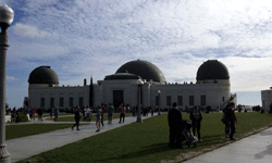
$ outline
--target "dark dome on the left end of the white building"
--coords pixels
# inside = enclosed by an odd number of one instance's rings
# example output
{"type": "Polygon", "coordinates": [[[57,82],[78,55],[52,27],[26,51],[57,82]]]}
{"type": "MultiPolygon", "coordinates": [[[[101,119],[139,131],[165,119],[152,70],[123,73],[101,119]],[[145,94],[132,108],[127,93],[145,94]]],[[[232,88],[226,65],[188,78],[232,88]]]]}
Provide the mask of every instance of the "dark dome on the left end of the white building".
{"type": "Polygon", "coordinates": [[[50,66],[39,66],[30,73],[28,83],[59,85],[59,77],[50,66]]]}

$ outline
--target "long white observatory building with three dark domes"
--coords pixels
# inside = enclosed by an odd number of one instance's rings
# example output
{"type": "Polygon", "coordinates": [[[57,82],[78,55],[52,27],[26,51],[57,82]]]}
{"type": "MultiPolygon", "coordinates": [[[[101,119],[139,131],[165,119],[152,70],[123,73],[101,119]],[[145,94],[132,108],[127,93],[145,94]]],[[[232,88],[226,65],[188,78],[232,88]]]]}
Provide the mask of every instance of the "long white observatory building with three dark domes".
{"type": "Polygon", "coordinates": [[[71,87],[59,86],[58,75],[50,66],[39,66],[28,78],[28,108],[94,108],[101,103],[118,106],[121,102],[133,108],[140,100],[144,106],[168,109],[177,102],[183,110],[194,105],[219,110],[230,101],[237,103],[236,95],[231,93],[227,67],[222,62],[208,60],[202,63],[196,78],[196,84],[168,84],[156,65],[135,60],[123,64],[115,74],[106,76],[97,84],[90,79],[87,85],[84,79],[83,86],[71,87]]]}

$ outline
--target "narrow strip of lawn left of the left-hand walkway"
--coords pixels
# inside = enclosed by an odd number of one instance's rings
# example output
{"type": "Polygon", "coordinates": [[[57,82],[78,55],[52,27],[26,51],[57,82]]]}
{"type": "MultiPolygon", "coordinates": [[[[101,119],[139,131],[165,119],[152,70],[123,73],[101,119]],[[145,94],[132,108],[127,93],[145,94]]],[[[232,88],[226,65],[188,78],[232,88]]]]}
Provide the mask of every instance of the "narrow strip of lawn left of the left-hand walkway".
{"type": "Polygon", "coordinates": [[[71,127],[71,124],[27,124],[27,125],[7,125],[5,139],[15,139],[41,133],[71,127]]]}

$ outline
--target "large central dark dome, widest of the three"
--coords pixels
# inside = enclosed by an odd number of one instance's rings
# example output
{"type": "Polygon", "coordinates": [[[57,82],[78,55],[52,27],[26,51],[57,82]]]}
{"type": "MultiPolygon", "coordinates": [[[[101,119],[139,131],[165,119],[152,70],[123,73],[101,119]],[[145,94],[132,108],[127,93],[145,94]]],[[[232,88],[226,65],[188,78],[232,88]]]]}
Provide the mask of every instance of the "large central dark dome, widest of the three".
{"type": "Polygon", "coordinates": [[[131,61],[123,64],[115,74],[129,73],[140,76],[143,79],[150,82],[164,83],[165,77],[162,72],[152,63],[141,60],[131,61]]]}

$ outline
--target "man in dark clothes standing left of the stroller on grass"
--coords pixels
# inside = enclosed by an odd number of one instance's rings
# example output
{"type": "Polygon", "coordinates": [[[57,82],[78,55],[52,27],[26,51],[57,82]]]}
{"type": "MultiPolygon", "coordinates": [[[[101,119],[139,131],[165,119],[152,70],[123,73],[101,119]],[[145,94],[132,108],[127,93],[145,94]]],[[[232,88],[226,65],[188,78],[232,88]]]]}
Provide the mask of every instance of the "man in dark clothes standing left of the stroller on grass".
{"type": "Polygon", "coordinates": [[[183,131],[183,117],[182,112],[177,109],[176,102],[173,103],[173,109],[169,111],[168,115],[169,127],[170,127],[170,148],[182,149],[182,131],[183,131]]]}

